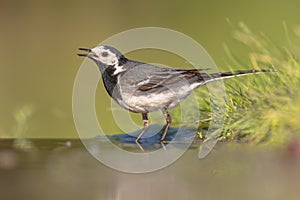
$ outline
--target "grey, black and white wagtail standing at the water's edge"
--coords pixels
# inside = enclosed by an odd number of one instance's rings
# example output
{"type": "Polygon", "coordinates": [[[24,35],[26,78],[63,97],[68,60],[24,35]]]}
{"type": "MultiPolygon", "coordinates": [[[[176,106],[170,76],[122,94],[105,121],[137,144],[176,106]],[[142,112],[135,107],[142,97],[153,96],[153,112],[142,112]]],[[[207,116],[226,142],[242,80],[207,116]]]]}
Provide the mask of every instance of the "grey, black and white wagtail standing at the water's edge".
{"type": "Polygon", "coordinates": [[[137,143],[149,126],[149,112],[160,110],[166,119],[163,141],[171,124],[167,110],[186,99],[194,89],[219,79],[271,71],[253,69],[208,74],[199,69],[163,68],[129,60],[110,46],[79,50],[87,53],[78,56],[88,57],[98,65],[108,94],[121,107],[142,114],[144,128],[136,138],[137,143]]]}

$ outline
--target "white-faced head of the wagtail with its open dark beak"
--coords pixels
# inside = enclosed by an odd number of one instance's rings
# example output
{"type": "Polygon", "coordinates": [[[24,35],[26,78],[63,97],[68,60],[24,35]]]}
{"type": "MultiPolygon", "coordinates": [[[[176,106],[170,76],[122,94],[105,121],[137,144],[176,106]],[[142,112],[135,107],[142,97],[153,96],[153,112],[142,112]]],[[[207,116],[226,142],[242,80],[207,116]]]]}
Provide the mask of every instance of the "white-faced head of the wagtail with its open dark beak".
{"type": "Polygon", "coordinates": [[[87,53],[77,54],[78,56],[88,57],[96,63],[103,64],[105,66],[116,66],[120,63],[120,61],[125,59],[120,51],[110,46],[97,46],[92,49],[79,48],[79,50],[87,53]]]}

